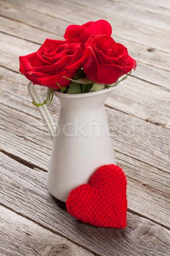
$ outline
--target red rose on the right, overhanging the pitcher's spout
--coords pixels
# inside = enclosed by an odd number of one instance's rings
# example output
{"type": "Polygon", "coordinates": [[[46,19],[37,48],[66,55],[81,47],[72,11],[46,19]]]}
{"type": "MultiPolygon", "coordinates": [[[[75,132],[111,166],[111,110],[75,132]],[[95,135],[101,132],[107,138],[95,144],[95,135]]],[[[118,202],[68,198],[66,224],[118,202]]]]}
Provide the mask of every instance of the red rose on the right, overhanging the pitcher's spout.
{"type": "Polygon", "coordinates": [[[119,77],[136,68],[127,48],[108,35],[91,36],[85,44],[83,71],[88,79],[113,84],[119,77]]]}

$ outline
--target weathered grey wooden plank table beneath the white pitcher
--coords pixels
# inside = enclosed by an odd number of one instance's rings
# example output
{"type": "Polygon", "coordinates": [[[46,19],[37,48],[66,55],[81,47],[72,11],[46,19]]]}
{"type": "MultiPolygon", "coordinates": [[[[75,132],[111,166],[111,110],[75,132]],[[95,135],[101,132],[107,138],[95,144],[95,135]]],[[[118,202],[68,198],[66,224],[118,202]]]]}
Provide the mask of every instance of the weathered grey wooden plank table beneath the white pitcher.
{"type": "MultiPolygon", "coordinates": [[[[170,1],[0,0],[0,256],[170,255],[170,1]],[[46,188],[51,139],[18,56],[69,24],[106,19],[137,68],[105,102],[127,176],[127,227],[71,217],[46,188]]],[[[43,90],[44,88],[41,88],[43,90]]],[[[49,111],[57,121],[57,99],[49,111]]]]}

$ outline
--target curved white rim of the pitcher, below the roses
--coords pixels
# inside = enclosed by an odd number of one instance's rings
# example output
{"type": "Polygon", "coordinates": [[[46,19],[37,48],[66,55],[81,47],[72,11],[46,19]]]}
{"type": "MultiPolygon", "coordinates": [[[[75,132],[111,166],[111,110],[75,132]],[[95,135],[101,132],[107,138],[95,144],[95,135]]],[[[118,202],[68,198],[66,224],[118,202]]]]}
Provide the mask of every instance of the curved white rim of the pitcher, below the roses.
{"type": "MultiPolygon", "coordinates": [[[[119,81],[120,79],[118,79],[117,81],[119,81]]],[[[76,94],[71,94],[71,93],[60,93],[56,90],[54,90],[54,95],[61,97],[61,98],[69,98],[69,99],[74,99],[74,98],[84,98],[84,97],[88,97],[88,96],[94,96],[94,95],[98,95],[98,94],[102,94],[102,93],[106,93],[109,91],[112,91],[120,86],[123,85],[123,81],[120,82],[119,84],[113,86],[113,87],[108,87],[102,90],[98,90],[98,91],[94,91],[94,92],[90,92],[90,93],[76,93],[76,94]]]]}

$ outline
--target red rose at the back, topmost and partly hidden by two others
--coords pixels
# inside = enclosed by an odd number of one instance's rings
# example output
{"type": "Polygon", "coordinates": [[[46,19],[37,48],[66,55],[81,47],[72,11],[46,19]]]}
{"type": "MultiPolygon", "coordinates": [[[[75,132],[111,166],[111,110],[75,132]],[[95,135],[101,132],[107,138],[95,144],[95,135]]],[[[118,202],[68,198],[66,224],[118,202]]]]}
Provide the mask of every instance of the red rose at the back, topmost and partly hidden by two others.
{"type": "Polygon", "coordinates": [[[85,44],[91,35],[109,35],[112,28],[106,20],[89,21],[82,26],[70,25],[65,30],[64,38],[68,42],[85,44]]]}

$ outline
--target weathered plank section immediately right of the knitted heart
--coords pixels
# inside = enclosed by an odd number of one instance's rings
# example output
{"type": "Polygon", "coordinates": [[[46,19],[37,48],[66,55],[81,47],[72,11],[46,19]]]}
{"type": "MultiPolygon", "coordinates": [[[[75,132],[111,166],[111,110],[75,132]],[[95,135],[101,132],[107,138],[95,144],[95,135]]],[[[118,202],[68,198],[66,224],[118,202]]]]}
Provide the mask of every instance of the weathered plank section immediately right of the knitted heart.
{"type": "MultiPolygon", "coordinates": [[[[125,168],[126,170],[126,168],[125,168]]],[[[170,177],[169,177],[170,178],[170,177]]],[[[146,216],[156,223],[163,223],[164,226],[170,227],[170,194],[164,194],[156,191],[142,183],[127,178],[127,201],[129,209],[137,212],[138,215],[146,216]],[[155,216],[157,216],[155,218],[155,216]],[[163,219],[165,221],[163,221],[163,219]]],[[[153,181],[154,183],[154,181],[153,181]]],[[[170,184],[169,184],[170,185],[170,184]]]]}

